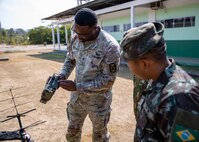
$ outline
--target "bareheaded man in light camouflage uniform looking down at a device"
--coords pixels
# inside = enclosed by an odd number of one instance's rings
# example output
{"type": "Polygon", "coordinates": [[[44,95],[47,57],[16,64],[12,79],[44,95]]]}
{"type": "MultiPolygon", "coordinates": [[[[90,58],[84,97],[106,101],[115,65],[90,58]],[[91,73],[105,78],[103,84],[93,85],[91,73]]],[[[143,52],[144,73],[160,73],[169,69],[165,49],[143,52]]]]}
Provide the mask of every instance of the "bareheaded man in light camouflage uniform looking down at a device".
{"type": "Polygon", "coordinates": [[[80,142],[83,122],[89,115],[93,142],[108,142],[112,86],[119,68],[118,42],[97,26],[97,16],[88,9],[75,15],[74,37],[60,71],[60,86],[72,91],[67,107],[68,142],[80,142]],[[75,81],[66,80],[75,68],[75,81]]]}

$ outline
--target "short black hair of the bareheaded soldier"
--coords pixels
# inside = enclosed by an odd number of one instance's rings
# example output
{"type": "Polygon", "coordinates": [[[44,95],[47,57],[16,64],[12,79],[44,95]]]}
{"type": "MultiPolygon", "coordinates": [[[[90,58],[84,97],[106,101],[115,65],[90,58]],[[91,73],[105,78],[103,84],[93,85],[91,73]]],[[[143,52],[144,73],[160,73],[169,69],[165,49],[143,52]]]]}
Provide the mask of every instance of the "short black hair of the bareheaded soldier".
{"type": "Polygon", "coordinates": [[[82,8],[75,15],[75,23],[80,26],[92,27],[97,24],[97,15],[89,8],[82,8]]]}

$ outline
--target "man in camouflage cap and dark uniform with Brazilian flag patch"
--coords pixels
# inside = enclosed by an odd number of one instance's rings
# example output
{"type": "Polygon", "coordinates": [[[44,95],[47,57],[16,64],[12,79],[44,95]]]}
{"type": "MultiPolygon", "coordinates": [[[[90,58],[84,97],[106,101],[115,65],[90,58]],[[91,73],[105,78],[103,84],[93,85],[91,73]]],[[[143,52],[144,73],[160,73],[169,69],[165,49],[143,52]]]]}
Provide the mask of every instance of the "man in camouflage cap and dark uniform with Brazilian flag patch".
{"type": "Polygon", "coordinates": [[[199,85],[166,55],[161,23],[126,32],[124,59],[140,79],[150,80],[138,103],[135,142],[199,141],[199,85]]]}

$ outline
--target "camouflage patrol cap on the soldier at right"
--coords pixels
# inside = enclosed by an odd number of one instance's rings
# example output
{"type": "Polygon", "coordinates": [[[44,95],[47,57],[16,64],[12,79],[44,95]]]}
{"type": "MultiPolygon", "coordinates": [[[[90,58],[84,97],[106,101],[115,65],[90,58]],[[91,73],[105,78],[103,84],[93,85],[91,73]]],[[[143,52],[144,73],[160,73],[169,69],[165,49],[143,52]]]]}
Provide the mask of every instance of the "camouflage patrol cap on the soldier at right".
{"type": "Polygon", "coordinates": [[[164,25],[147,23],[128,30],[120,43],[125,60],[135,60],[153,48],[163,38],[164,25]]]}

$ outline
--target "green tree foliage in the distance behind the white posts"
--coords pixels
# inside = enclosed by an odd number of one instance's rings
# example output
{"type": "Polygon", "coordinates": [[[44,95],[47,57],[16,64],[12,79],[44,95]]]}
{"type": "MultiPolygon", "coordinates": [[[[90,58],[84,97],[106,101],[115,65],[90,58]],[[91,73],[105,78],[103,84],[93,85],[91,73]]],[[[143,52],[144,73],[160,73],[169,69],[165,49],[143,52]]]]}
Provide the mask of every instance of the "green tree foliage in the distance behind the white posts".
{"type": "MultiPolygon", "coordinates": [[[[68,39],[70,39],[70,25],[67,25],[68,39]]],[[[54,29],[57,43],[57,27],[54,29]]],[[[60,43],[65,43],[65,27],[59,28],[60,43]]],[[[52,28],[39,26],[28,31],[23,29],[0,29],[0,44],[52,44],[52,28]]]]}

